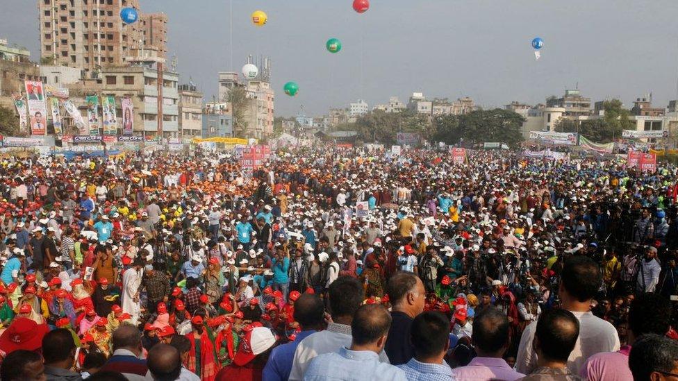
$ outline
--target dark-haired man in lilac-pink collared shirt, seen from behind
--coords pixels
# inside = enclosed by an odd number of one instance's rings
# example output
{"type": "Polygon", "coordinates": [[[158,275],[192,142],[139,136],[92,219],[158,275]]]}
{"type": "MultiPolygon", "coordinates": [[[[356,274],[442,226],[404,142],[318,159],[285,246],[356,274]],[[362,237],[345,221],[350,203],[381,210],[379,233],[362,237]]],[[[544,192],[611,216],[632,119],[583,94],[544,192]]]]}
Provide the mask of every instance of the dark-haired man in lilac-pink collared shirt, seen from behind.
{"type": "Polygon", "coordinates": [[[467,366],[452,369],[456,380],[513,381],[524,377],[502,358],[509,348],[509,319],[506,314],[495,307],[481,312],[473,321],[471,340],[478,356],[467,366]]]}

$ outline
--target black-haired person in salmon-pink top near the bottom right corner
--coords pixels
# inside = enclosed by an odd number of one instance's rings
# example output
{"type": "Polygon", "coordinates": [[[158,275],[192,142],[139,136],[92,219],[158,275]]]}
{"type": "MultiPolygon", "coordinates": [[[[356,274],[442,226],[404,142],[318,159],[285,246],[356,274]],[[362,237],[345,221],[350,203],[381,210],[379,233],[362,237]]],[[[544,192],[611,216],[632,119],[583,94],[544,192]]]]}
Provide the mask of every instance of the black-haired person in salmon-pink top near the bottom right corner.
{"type": "Polygon", "coordinates": [[[629,353],[634,341],[647,333],[665,335],[671,318],[668,299],[658,294],[641,294],[631,302],[629,310],[629,344],[616,352],[597,353],[588,358],[579,372],[590,381],[633,380],[629,369],[629,353]]]}

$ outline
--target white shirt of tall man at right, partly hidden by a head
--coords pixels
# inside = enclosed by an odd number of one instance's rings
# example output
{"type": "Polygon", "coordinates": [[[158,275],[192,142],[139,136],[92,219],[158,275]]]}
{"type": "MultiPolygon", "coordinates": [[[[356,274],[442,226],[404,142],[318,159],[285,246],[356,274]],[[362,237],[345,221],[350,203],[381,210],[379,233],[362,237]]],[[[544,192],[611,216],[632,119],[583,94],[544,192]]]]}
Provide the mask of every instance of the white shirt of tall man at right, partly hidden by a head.
{"type": "MultiPolygon", "coordinates": [[[[579,369],[584,365],[588,357],[601,352],[615,352],[619,350],[619,336],[617,330],[608,321],[593,316],[589,312],[572,312],[579,320],[579,337],[574,350],[568,359],[568,369],[573,374],[579,374],[579,369]]],[[[515,359],[515,370],[529,374],[537,368],[537,354],[532,347],[534,332],[537,322],[533,321],[522,332],[518,358],[515,359]]]]}

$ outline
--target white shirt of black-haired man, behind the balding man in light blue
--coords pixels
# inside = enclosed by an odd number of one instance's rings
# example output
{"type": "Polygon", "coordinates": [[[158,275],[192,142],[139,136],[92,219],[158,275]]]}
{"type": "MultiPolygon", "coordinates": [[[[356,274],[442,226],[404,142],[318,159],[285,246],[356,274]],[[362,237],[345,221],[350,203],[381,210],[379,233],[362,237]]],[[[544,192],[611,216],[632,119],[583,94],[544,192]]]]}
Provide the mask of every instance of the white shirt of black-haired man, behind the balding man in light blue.
{"type": "MultiPolygon", "coordinates": [[[[351,327],[349,325],[329,323],[327,330],[315,332],[301,340],[297,350],[295,350],[289,380],[301,381],[308,365],[311,364],[311,360],[317,355],[333,353],[343,347],[349,348],[352,340],[350,333],[351,327]]],[[[389,364],[388,356],[383,350],[379,354],[379,361],[389,364]]]]}

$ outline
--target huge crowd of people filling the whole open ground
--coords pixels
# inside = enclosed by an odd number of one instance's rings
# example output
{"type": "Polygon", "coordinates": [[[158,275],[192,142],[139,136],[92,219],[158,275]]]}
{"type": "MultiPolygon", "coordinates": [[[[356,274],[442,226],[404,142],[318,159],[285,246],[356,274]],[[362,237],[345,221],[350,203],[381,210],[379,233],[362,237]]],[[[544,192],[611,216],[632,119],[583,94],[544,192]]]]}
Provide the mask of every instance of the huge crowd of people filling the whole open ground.
{"type": "Polygon", "coordinates": [[[0,159],[1,380],[678,377],[678,169],[0,159]]]}

